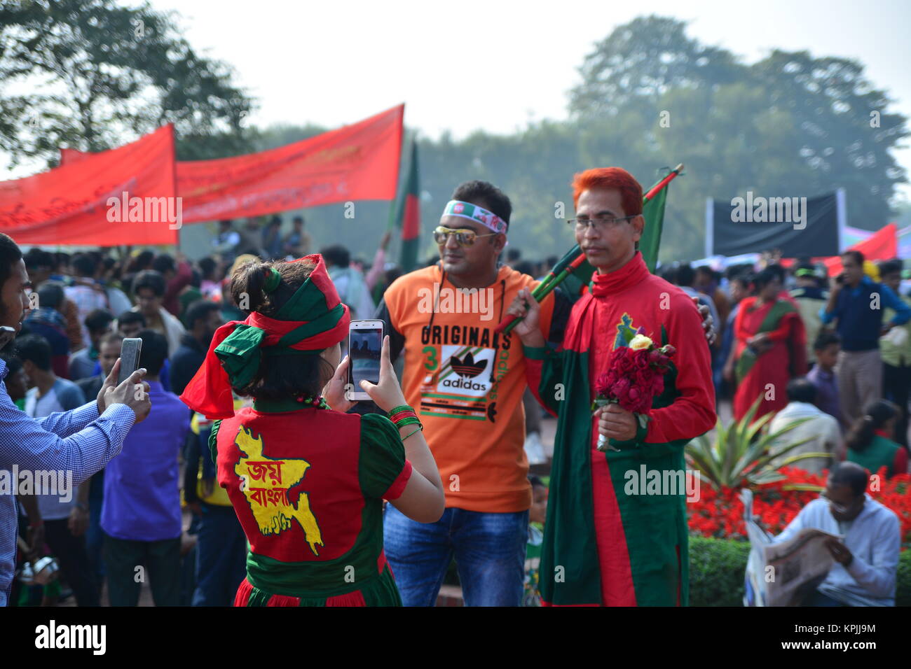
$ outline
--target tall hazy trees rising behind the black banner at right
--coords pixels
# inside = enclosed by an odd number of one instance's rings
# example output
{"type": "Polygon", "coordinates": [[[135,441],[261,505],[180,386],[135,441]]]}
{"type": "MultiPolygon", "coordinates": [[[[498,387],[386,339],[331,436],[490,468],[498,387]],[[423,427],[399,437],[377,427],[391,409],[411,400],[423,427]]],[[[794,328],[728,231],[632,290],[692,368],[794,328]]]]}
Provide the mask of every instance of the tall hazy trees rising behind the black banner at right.
{"type": "Polygon", "coordinates": [[[863,65],[773,51],[743,66],[685,28],[660,16],[618,26],[586,56],[569,98],[588,137],[578,153],[586,167],[627,167],[645,185],[655,167],[686,164],[671,187],[662,259],[701,257],[706,199],[747,190],[813,197],[844,188],[852,225],[888,222],[906,181],[892,150],[907,119],[889,110],[863,65]]]}

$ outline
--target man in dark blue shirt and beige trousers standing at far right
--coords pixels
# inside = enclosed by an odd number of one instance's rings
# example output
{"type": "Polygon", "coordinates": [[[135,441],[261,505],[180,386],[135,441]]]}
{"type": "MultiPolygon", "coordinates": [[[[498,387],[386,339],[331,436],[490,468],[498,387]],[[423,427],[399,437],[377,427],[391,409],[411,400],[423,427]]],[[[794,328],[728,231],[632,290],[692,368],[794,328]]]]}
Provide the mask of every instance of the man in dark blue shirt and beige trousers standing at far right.
{"type": "MultiPolygon", "coordinates": [[[[888,286],[864,274],[864,254],[848,250],[842,254],[842,273],[831,280],[829,301],[820,309],[824,325],[837,319],[835,329],[842,338],[835,375],[842,405],[842,418],[850,425],[864,407],[883,397],[883,364],[879,338],[896,325],[911,319],[911,308],[888,286]],[[896,313],[883,322],[883,309],[896,313]]],[[[905,411],[905,408],[902,408],[905,411]]]]}

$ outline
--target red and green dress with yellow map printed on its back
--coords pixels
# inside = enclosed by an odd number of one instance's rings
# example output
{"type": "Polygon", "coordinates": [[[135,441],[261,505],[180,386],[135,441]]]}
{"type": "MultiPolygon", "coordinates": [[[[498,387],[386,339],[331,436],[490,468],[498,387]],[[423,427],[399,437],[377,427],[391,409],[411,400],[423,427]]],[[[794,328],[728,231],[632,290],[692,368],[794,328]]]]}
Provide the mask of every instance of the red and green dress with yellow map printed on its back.
{"type": "Polygon", "coordinates": [[[255,401],[217,421],[218,481],[251,545],[235,606],[400,606],[383,500],[411,476],[384,416],[255,401]]]}

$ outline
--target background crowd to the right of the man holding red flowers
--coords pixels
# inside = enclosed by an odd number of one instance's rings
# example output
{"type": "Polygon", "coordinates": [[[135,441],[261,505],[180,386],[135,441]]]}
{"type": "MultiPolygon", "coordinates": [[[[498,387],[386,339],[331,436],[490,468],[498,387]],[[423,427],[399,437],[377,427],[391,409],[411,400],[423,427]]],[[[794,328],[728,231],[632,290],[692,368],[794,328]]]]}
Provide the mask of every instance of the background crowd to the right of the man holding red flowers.
{"type": "Polygon", "coordinates": [[[906,473],[911,390],[911,298],[898,258],[865,260],[849,250],[832,277],[798,258],[785,269],[764,254],[760,266],[674,264],[662,276],[717,314],[716,394],[732,398],[735,420],[774,413],[772,431],[803,421],[781,443],[805,441],[792,455],[807,471],[854,461],[889,476],[906,473]]]}

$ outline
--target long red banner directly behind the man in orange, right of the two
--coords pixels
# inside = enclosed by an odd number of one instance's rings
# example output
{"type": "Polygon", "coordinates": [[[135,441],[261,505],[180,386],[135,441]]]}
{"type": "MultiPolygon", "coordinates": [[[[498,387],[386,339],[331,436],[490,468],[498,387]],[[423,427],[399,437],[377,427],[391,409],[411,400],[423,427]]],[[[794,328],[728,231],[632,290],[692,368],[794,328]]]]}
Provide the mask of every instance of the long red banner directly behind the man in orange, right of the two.
{"type": "MultiPolygon", "coordinates": [[[[404,105],[284,147],[217,160],[180,161],[183,222],[261,216],[348,200],[394,199],[404,105]]],[[[61,165],[86,156],[60,149],[61,165]]]]}

